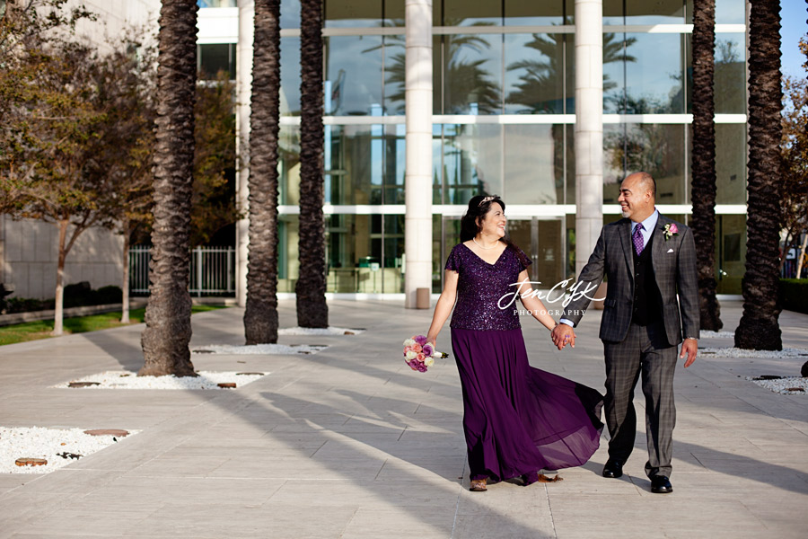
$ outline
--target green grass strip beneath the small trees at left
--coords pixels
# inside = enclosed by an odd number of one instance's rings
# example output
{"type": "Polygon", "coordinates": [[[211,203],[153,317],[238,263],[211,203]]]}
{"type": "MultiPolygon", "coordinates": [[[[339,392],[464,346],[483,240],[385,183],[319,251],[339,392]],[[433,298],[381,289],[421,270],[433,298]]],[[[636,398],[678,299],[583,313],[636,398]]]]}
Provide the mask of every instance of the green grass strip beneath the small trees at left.
{"type": "MultiPolygon", "coordinates": [[[[205,311],[224,308],[224,305],[193,305],[191,313],[204,313],[205,311]]],[[[131,320],[131,323],[142,323],[144,313],[145,309],[132,309],[129,311],[129,320],[131,320]]],[[[120,311],[92,314],[91,316],[75,316],[74,318],[65,319],[65,334],[106,330],[122,325],[130,324],[120,323],[120,311]]],[[[26,340],[47,339],[50,337],[50,331],[53,331],[53,320],[17,323],[0,327],[0,346],[26,340]]]]}

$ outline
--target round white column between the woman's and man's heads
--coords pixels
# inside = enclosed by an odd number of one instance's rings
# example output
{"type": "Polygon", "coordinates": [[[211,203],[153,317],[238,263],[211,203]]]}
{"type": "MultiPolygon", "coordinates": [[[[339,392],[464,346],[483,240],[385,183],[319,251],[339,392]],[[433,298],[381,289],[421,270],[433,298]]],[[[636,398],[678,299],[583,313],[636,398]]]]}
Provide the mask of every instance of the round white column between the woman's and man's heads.
{"type": "Polygon", "coordinates": [[[603,226],[603,4],[575,0],[575,274],[603,226]]]}

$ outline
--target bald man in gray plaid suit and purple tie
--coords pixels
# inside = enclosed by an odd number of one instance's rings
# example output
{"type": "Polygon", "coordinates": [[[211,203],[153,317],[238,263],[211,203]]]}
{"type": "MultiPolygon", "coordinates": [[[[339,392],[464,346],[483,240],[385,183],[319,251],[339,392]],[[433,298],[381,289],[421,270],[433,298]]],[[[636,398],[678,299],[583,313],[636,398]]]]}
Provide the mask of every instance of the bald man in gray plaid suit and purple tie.
{"type": "MultiPolygon", "coordinates": [[[[603,477],[620,477],[634,447],[634,387],[642,373],[646,474],[652,492],[667,493],[673,490],[669,477],[676,420],[676,347],[681,343],[680,358],[687,357],[684,366],[692,365],[698,349],[698,282],[693,233],[660,215],[655,199],[656,182],[650,174],[628,175],[618,199],[624,218],[603,226],[578,282],[592,283],[592,289],[604,275],[609,282],[600,332],[606,359],[604,408],[611,437],[603,477]]],[[[584,296],[566,306],[552,332],[558,349],[567,343],[575,346],[573,327],[589,301],[584,296]]]]}

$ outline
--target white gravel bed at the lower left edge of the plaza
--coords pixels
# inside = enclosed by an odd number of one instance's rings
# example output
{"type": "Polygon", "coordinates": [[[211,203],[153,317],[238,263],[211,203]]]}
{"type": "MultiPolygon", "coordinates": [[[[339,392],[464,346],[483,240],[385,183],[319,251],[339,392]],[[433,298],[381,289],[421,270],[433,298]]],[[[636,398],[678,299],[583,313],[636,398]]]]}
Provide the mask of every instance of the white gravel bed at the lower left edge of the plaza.
{"type": "Polygon", "coordinates": [[[121,438],[90,436],[84,430],[0,427],[0,473],[50,473],[140,432],[129,430],[128,436],[121,438]],[[18,458],[44,458],[48,464],[18,466],[14,464],[18,458]]]}

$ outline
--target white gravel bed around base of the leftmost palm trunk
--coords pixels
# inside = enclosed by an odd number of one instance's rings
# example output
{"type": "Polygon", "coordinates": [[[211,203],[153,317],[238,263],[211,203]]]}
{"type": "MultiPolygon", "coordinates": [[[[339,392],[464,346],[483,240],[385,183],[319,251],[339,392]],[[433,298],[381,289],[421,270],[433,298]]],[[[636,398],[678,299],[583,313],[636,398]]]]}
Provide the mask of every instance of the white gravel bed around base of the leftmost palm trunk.
{"type": "MultiPolygon", "coordinates": [[[[233,372],[198,371],[199,376],[137,376],[135,371],[107,371],[98,375],[82,376],[51,387],[68,387],[71,382],[98,382],[81,389],[231,389],[218,384],[234,383],[236,388],[255,382],[269,373],[239,374],[233,372]]],[[[71,388],[76,389],[78,388],[71,388]]]]}

